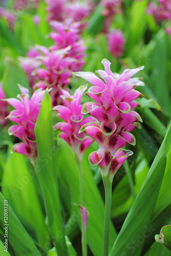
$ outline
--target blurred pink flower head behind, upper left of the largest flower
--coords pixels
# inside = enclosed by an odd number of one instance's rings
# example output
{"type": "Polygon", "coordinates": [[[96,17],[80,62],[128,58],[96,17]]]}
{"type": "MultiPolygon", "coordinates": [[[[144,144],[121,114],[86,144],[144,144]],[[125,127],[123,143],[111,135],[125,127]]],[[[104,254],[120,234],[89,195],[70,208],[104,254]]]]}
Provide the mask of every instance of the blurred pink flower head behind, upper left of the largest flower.
{"type": "Polygon", "coordinates": [[[51,32],[50,36],[55,41],[55,46],[52,46],[52,50],[63,49],[70,46],[67,56],[75,58],[77,61],[72,63],[71,70],[78,71],[81,70],[85,61],[86,47],[84,46],[84,41],[80,39],[80,22],[73,22],[71,18],[66,18],[64,23],[59,23],[52,21],[50,25],[56,29],[57,32],[51,32]]]}

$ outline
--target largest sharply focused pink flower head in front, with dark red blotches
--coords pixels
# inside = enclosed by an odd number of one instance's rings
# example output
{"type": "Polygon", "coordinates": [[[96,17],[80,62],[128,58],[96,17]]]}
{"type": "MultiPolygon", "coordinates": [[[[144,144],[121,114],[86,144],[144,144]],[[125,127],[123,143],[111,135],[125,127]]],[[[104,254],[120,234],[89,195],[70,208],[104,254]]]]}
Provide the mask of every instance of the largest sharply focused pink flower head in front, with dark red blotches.
{"type": "Polygon", "coordinates": [[[99,165],[103,175],[113,177],[121,164],[133,154],[121,147],[129,143],[135,145],[135,137],[130,131],[135,128],[137,121],[142,121],[132,109],[137,105],[134,100],[141,96],[134,89],[142,86],[143,82],[131,77],[144,67],[113,75],[111,63],[107,59],[103,59],[102,63],[105,71],[98,70],[97,73],[105,82],[91,72],[74,74],[93,85],[86,95],[95,102],[86,103],[81,113],[89,114],[100,122],[86,123],[80,129],[80,133],[90,136],[100,147],[90,154],[89,161],[92,165],[99,165]]]}

